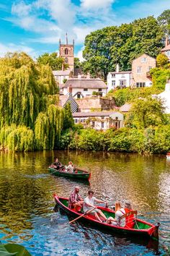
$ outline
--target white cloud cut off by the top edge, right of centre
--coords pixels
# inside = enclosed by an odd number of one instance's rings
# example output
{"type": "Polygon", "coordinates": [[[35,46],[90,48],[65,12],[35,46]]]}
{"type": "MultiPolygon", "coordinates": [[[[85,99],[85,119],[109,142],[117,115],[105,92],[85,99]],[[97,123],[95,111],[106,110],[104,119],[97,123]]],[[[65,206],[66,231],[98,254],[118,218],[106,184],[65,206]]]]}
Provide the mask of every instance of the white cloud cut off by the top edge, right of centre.
{"type": "Polygon", "coordinates": [[[81,0],[81,7],[84,9],[101,9],[108,8],[114,0],[81,0]]]}

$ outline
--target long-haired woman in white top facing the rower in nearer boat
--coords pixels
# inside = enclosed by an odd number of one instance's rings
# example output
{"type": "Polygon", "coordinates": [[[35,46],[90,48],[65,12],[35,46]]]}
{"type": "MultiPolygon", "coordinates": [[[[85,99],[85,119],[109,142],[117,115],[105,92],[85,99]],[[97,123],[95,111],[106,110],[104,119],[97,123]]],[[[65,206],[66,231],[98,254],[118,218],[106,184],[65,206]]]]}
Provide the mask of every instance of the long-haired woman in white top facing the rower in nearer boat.
{"type": "Polygon", "coordinates": [[[125,226],[125,218],[121,219],[124,214],[125,209],[121,207],[121,202],[115,202],[115,218],[109,217],[107,223],[115,226],[125,226]]]}

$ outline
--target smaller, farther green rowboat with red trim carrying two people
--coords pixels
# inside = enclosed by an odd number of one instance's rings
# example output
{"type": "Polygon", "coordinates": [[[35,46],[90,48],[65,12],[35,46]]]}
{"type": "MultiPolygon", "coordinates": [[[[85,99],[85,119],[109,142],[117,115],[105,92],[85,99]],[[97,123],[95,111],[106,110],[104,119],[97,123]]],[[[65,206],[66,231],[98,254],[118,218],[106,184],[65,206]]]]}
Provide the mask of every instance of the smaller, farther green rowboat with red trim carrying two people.
{"type": "Polygon", "coordinates": [[[50,171],[50,174],[53,174],[55,176],[64,176],[67,178],[73,178],[73,179],[90,179],[91,173],[89,171],[84,171],[79,168],[74,168],[73,172],[64,171],[63,168],[59,168],[58,170],[52,167],[48,168],[50,171]]]}

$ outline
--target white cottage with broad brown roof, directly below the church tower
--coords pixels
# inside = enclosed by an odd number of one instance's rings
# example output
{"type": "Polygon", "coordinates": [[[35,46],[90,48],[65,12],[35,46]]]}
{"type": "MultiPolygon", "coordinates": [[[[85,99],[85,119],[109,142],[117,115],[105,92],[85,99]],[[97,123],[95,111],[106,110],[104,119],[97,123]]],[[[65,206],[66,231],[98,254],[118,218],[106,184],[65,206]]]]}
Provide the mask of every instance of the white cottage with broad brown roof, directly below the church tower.
{"type": "Polygon", "coordinates": [[[63,85],[63,95],[68,93],[68,88],[74,98],[91,96],[94,92],[102,96],[107,94],[107,85],[99,78],[69,78],[63,85]]]}

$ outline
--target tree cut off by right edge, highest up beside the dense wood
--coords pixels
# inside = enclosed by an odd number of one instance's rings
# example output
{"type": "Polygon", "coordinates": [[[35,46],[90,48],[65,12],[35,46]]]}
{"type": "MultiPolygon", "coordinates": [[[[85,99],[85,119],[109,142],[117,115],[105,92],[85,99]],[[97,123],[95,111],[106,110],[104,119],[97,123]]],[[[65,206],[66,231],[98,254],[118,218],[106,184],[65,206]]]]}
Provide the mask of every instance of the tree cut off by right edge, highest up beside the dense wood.
{"type": "Polygon", "coordinates": [[[170,36],[170,9],[165,10],[158,16],[158,24],[164,30],[166,35],[170,36]]]}

